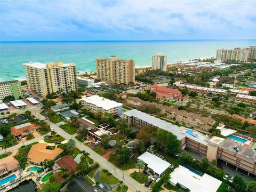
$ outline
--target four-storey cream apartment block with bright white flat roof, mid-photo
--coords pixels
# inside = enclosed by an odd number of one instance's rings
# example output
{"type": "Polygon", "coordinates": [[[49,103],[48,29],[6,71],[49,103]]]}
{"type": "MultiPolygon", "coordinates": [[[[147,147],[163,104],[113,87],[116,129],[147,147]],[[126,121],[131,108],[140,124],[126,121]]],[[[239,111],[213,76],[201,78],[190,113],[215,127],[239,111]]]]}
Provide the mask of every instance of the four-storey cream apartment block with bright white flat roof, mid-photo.
{"type": "Polygon", "coordinates": [[[91,97],[83,96],[82,105],[93,113],[109,113],[111,115],[122,116],[122,103],[111,101],[109,99],[93,95],[91,97]]]}

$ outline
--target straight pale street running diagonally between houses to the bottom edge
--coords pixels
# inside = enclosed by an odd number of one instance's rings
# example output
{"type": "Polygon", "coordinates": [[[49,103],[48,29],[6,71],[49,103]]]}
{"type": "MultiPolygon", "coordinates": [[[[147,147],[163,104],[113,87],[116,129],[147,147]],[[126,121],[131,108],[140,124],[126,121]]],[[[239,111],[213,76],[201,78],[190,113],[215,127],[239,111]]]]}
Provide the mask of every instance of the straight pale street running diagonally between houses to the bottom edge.
{"type": "Polygon", "coordinates": [[[124,177],[124,183],[127,187],[129,187],[133,191],[149,191],[148,188],[141,185],[139,182],[135,181],[133,178],[130,177],[126,172],[118,169],[115,165],[107,161],[105,158],[101,157],[99,154],[97,154],[95,151],[93,151],[91,148],[85,146],[82,142],[75,139],[72,135],[68,134],[67,132],[63,131],[55,125],[54,123],[50,122],[49,120],[45,121],[48,123],[51,127],[54,128],[54,131],[56,131],[59,135],[61,135],[66,140],[74,139],[76,141],[76,147],[79,150],[85,150],[86,152],[90,153],[90,157],[99,163],[99,165],[103,168],[111,172],[117,179],[123,181],[124,177]]]}

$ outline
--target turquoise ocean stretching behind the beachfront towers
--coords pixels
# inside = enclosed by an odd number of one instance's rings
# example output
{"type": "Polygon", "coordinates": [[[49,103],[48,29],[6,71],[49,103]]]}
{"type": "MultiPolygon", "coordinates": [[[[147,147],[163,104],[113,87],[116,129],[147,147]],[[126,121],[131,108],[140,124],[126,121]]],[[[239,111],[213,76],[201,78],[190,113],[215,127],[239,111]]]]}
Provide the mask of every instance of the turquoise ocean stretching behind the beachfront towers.
{"type": "Polygon", "coordinates": [[[120,41],[120,42],[2,42],[0,81],[24,79],[22,64],[33,62],[74,62],[77,70],[95,71],[97,57],[117,55],[134,59],[135,66],[151,66],[151,56],[157,52],[167,54],[167,63],[196,58],[215,57],[220,48],[256,45],[256,40],[221,41],[120,41]]]}

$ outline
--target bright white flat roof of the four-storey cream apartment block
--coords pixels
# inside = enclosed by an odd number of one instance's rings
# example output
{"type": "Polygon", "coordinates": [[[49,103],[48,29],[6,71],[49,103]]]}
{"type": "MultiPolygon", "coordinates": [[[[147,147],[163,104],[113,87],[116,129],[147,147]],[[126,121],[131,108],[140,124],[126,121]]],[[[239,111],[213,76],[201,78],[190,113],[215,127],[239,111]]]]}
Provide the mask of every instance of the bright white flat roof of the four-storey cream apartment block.
{"type": "Polygon", "coordinates": [[[109,99],[99,97],[98,95],[93,95],[91,97],[82,98],[82,101],[85,101],[87,103],[91,103],[97,107],[103,108],[105,110],[109,110],[114,107],[122,106],[122,103],[118,103],[116,101],[111,101],[109,99]]]}

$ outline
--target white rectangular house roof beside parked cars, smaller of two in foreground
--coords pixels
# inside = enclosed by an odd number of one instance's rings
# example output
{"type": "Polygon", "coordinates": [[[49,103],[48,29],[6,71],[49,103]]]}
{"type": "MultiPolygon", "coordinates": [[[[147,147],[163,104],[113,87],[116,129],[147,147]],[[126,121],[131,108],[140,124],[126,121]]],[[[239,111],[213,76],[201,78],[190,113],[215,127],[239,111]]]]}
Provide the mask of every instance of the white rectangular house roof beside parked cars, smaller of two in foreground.
{"type": "Polygon", "coordinates": [[[168,169],[171,166],[170,163],[149,153],[148,151],[139,156],[138,159],[146,163],[151,170],[153,170],[155,173],[159,175],[161,175],[166,169],[168,169]]]}

